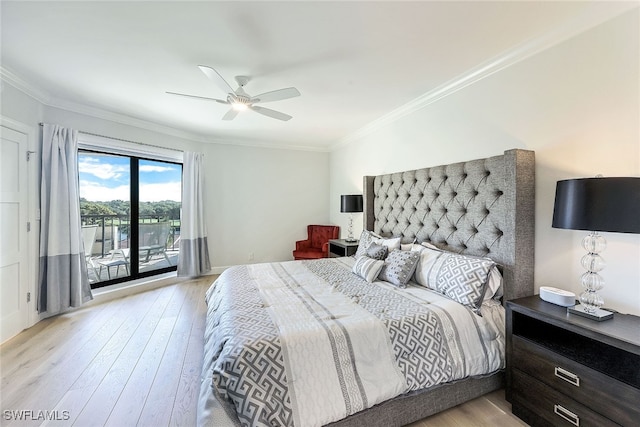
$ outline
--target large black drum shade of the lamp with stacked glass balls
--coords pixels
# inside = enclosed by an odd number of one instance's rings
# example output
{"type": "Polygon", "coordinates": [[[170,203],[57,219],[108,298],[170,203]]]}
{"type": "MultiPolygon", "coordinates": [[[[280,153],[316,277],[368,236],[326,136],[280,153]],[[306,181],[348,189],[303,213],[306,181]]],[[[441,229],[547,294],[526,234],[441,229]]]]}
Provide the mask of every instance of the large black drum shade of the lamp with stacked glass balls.
{"type": "Polygon", "coordinates": [[[640,233],[640,178],[558,181],[552,227],[640,233]]]}

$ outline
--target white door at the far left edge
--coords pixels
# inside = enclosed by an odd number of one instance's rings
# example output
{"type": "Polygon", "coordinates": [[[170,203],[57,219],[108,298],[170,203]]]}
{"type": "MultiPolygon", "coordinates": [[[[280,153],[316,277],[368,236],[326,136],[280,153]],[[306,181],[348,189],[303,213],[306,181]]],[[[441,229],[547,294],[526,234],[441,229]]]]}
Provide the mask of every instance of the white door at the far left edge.
{"type": "Polygon", "coordinates": [[[0,126],[0,342],[28,326],[27,135],[0,126]]]}

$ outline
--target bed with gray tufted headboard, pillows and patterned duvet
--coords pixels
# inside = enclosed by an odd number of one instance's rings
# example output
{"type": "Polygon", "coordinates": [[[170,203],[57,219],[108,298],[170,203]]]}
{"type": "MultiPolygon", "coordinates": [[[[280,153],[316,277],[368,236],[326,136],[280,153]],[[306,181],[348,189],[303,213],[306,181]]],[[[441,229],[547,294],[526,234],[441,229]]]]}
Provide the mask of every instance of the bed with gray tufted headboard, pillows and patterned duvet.
{"type": "Polygon", "coordinates": [[[503,386],[501,303],[533,294],[534,153],[363,193],[355,257],[236,266],[207,291],[199,425],[400,426],[503,386]]]}

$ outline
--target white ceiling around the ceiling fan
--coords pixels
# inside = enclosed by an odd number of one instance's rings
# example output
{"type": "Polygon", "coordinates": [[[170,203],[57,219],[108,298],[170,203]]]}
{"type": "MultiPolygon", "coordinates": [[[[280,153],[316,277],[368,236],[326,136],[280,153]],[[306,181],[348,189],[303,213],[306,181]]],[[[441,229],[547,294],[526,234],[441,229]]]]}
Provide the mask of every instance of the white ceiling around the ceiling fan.
{"type": "MultiPolygon", "coordinates": [[[[636,2],[1,2],[2,77],[47,105],[197,140],[328,150],[388,114],[499,69],[636,2]],[[506,59],[505,59],[506,58],[506,59]],[[165,91],[224,98],[196,67],[288,122],[165,91]],[[232,84],[235,87],[235,84],[232,84]]],[[[387,115],[387,116],[386,116],[387,115]]]]}

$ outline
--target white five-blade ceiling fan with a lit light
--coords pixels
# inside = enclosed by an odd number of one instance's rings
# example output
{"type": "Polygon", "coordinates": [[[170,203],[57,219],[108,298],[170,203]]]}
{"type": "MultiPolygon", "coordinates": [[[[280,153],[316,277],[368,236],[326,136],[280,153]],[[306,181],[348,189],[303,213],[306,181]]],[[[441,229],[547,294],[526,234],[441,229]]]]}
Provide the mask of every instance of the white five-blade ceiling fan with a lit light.
{"type": "Polygon", "coordinates": [[[197,98],[204,99],[208,101],[219,102],[220,104],[228,104],[231,105],[231,109],[222,116],[222,120],[233,120],[238,113],[244,110],[253,110],[256,113],[263,114],[267,117],[271,117],[278,120],[287,121],[291,119],[291,116],[285,113],[281,113],[280,111],[271,110],[269,108],[264,108],[258,103],[263,102],[272,102],[272,101],[280,101],[283,99],[293,98],[295,96],[300,96],[300,92],[295,87],[288,87],[285,89],[278,89],[271,92],[265,92],[260,95],[251,96],[244,91],[244,86],[249,82],[250,78],[247,76],[236,76],[235,80],[238,83],[238,88],[233,90],[233,88],[227,83],[227,81],[211,67],[207,67],[206,65],[198,65],[198,68],[215,84],[218,85],[220,89],[227,93],[227,99],[216,99],[216,98],[207,98],[205,96],[197,96],[197,95],[188,95],[186,93],[177,93],[177,92],[167,92],[171,95],[179,95],[186,96],[188,98],[197,98]]]}

